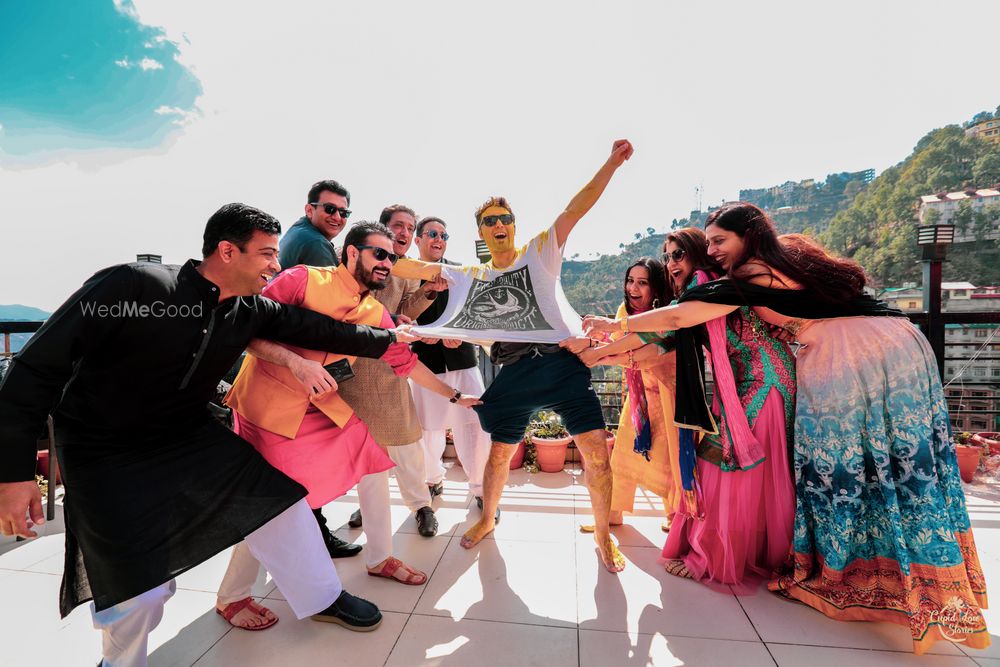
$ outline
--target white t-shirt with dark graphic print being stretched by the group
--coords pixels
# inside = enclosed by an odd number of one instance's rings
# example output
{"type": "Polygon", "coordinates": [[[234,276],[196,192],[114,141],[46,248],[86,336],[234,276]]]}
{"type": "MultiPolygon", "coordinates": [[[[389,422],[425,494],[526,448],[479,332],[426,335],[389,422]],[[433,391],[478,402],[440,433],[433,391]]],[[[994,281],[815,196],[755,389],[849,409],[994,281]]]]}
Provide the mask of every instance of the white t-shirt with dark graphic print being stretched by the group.
{"type": "Polygon", "coordinates": [[[421,336],[473,342],[558,343],[583,333],[580,316],[563,293],[559,273],[563,249],[547,229],[517,251],[505,269],[492,261],[442,266],[448,307],[435,322],[417,327],[421,336]]]}

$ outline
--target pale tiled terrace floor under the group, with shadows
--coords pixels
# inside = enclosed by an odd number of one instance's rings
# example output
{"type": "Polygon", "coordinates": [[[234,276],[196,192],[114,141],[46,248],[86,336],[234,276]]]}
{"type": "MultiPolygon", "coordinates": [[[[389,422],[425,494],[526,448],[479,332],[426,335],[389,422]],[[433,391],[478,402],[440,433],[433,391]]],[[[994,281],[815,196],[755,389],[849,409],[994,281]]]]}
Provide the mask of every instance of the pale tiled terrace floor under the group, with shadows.
{"type": "MultiPolygon", "coordinates": [[[[979,555],[990,595],[1000,600],[1000,493],[968,489],[979,555]]],[[[451,467],[435,501],[440,532],[420,537],[393,489],[397,555],[430,575],[425,586],[369,577],[361,558],[337,561],[347,590],[378,604],[373,633],[297,621],[261,573],[254,595],[281,617],[265,632],[231,628],[214,613],[214,591],[228,551],[178,578],[178,593],[150,638],[150,664],[198,667],[251,665],[482,665],[604,667],[619,665],[858,665],[1000,667],[1000,636],[986,651],[938,643],[933,654],[910,653],[908,632],[887,623],[841,623],[764,590],[729,591],[667,575],[657,563],[664,533],[656,499],[636,497],[636,514],[615,529],[628,567],[620,575],[598,565],[592,538],[578,526],[591,510],[579,470],[511,474],[496,534],[474,550],[462,532],[479,516],[465,476],[451,467]]],[[[346,522],[353,494],[325,513],[345,539],[364,542],[346,522]]],[[[0,541],[0,665],[91,666],[100,636],[86,607],[60,620],[62,527],[14,544],[0,541]]],[[[987,612],[1000,634],[1000,614],[987,612]]]]}

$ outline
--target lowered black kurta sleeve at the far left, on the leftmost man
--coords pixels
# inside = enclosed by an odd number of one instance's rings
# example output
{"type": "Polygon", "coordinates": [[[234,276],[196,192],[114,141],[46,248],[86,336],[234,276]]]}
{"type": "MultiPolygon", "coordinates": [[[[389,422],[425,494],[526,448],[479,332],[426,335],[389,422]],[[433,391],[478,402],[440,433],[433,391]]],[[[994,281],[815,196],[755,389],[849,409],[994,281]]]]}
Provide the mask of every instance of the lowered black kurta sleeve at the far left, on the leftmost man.
{"type": "Polygon", "coordinates": [[[15,355],[0,383],[0,482],[35,478],[35,442],[76,364],[121,324],[101,307],[131,300],[134,285],[128,266],[99,271],[15,355]]]}

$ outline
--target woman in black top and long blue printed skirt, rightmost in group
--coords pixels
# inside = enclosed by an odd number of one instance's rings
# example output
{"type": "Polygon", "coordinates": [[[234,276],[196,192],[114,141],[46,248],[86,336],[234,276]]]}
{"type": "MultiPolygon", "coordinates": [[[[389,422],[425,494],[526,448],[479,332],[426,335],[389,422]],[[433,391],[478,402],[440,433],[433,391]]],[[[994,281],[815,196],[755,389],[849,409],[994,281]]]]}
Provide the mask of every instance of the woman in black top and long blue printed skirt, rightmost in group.
{"type": "MultiPolygon", "coordinates": [[[[831,618],[909,627],[985,648],[986,585],[959,482],[930,345],[899,311],[866,297],[864,271],[801,235],[778,237],[757,207],[709,216],[727,271],[681,303],[594,331],[695,326],[752,305],[802,346],[797,359],[794,571],[771,589],[831,618]]],[[[685,346],[678,342],[678,365],[685,346]]],[[[702,417],[697,401],[678,419],[702,417]]]]}

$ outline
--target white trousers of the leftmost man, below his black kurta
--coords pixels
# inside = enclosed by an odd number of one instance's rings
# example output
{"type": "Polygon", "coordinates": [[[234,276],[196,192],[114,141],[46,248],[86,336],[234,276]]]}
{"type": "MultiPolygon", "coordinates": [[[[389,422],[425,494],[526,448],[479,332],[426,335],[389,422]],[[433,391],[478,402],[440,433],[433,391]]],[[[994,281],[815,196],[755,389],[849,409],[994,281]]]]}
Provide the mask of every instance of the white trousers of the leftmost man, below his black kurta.
{"type": "MultiPolygon", "coordinates": [[[[304,499],[247,535],[242,544],[271,573],[298,618],[323,611],[340,597],[340,577],[304,499]]],[[[91,604],[94,627],[104,635],[106,667],[145,667],[149,633],[163,618],[163,605],[176,588],[171,580],[104,611],[95,611],[91,604]]]]}

